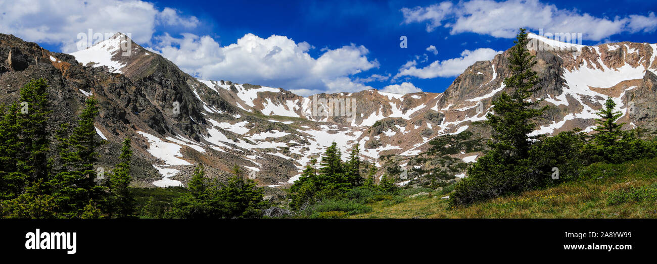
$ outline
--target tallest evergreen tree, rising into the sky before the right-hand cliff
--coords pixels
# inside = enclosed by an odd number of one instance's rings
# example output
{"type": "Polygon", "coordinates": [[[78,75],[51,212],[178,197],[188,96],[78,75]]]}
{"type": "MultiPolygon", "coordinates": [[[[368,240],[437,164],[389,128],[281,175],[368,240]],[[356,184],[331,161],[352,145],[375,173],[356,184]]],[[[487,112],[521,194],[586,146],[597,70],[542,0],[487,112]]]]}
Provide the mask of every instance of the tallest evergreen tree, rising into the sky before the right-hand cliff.
{"type": "Polygon", "coordinates": [[[541,100],[531,100],[539,89],[536,64],[527,49],[529,40],[524,28],[516,36],[509,53],[510,76],[504,84],[512,89],[509,95],[501,93],[493,100],[492,112],[486,114],[486,123],[493,129],[491,150],[468,169],[468,177],[459,182],[451,195],[452,205],[495,198],[504,194],[533,189],[548,183],[545,174],[530,159],[534,137],[528,136],[535,128],[533,120],[547,108],[538,108],[541,100]]]}

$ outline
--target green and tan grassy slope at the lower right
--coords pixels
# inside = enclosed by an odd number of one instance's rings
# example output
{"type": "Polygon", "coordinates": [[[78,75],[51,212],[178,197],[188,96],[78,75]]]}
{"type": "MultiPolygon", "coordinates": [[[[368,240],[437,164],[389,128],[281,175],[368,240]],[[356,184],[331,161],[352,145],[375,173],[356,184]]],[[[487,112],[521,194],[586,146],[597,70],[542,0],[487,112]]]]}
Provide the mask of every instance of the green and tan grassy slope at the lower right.
{"type": "Polygon", "coordinates": [[[368,213],[351,218],[656,218],[657,158],[624,164],[593,164],[579,179],[450,208],[439,192],[404,196],[399,203],[373,202],[368,213]]]}

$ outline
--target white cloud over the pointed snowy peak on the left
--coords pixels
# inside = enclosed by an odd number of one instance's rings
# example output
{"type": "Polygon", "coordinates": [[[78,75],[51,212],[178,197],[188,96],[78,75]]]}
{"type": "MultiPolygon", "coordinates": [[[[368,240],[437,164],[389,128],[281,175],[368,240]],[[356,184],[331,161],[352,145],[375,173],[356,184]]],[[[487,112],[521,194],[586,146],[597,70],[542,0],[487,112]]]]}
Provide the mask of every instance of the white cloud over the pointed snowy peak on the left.
{"type": "MultiPolygon", "coordinates": [[[[184,17],[178,11],[137,0],[0,1],[0,32],[28,41],[60,45],[65,53],[77,51],[78,33],[131,33],[137,43],[150,43],[158,25],[193,28],[194,16],[184,17]]],[[[100,41],[102,39],[96,39],[100,41]]]]}

